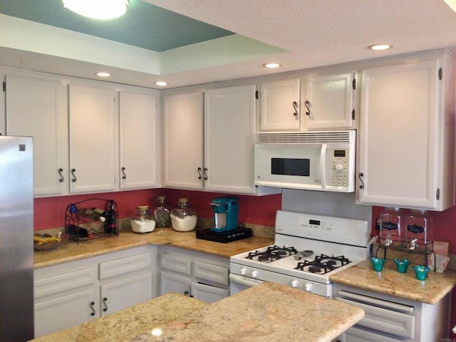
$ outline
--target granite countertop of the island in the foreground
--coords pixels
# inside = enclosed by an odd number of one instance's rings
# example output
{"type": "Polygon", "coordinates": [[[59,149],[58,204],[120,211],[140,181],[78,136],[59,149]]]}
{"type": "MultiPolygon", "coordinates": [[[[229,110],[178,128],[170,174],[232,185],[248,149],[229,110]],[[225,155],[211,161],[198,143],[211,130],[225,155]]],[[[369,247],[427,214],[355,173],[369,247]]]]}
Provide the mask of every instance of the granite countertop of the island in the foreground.
{"type": "Polygon", "coordinates": [[[357,306],[266,282],[213,304],[167,294],[36,341],[329,342],[363,316],[357,306]]]}

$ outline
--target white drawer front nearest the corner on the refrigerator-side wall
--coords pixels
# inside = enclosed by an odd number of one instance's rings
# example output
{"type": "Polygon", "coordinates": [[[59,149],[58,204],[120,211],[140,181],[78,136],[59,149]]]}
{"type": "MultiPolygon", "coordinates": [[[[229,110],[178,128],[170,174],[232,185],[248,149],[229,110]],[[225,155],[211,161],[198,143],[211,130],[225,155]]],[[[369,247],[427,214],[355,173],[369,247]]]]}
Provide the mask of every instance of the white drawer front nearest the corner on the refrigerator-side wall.
{"type": "Polygon", "coordinates": [[[100,280],[152,268],[150,253],[142,253],[100,263],[100,280]]]}

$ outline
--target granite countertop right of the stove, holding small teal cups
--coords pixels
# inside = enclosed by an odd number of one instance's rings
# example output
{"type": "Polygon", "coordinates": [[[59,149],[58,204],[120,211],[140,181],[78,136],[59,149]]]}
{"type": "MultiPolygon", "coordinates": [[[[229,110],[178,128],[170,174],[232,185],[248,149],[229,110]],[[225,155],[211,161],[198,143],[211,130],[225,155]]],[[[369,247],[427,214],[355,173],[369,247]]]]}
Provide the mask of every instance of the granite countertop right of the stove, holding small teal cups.
{"type": "Polygon", "coordinates": [[[430,271],[427,279],[421,281],[415,279],[415,271],[410,266],[407,273],[399,273],[393,260],[387,260],[383,271],[378,272],[373,270],[371,261],[366,259],[329,276],[329,279],[335,283],[427,304],[436,304],[456,285],[456,271],[430,271]]]}

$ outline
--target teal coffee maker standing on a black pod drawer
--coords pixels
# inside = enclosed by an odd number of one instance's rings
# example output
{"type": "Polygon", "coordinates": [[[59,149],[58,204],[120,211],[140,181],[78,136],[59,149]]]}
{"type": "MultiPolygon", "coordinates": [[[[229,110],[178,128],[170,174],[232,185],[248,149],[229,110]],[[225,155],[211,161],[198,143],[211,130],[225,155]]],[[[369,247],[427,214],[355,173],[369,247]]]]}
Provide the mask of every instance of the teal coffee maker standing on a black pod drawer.
{"type": "Polygon", "coordinates": [[[212,232],[229,232],[237,229],[238,197],[217,197],[212,200],[210,205],[214,212],[214,226],[210,228],[212,232]]]}

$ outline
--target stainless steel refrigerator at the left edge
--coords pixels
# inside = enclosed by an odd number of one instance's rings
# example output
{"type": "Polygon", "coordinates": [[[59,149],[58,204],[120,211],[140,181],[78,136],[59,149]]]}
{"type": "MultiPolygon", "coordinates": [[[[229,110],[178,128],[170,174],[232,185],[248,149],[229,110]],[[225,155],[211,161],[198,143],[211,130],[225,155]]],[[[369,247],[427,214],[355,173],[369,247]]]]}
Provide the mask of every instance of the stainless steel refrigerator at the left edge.
{"type": "Polygon", "coordinates": [[[33,335],[33,139],[0,136],[0,341],[33,335]]]}

